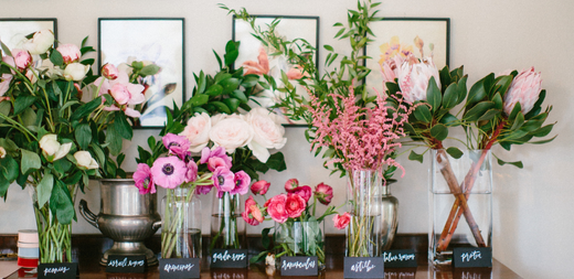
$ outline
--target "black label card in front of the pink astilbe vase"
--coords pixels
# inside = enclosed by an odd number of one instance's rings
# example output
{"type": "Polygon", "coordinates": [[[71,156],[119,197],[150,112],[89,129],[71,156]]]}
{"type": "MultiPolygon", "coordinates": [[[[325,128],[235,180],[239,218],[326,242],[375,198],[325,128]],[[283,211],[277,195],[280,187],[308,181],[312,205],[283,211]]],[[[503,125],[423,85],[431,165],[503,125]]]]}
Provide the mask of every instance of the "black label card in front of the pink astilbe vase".
{"type": "Polygon", "coordinates": [[[344,257],[344,278],[384,278],[382,257],[344,257]]]}

